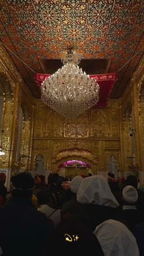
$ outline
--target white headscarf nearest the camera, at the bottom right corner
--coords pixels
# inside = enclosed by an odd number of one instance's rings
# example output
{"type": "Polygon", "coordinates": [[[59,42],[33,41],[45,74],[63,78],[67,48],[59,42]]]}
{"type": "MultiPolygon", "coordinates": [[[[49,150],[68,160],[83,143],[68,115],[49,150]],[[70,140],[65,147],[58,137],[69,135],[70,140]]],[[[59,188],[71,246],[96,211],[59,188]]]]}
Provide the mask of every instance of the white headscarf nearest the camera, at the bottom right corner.
{"type": "Polygon", "coordinates": [[[131,231],[121,223],[109,219],[98,225],[93,232],[98,238],[104,256],[139,256],[139,247],[131,231]]]}

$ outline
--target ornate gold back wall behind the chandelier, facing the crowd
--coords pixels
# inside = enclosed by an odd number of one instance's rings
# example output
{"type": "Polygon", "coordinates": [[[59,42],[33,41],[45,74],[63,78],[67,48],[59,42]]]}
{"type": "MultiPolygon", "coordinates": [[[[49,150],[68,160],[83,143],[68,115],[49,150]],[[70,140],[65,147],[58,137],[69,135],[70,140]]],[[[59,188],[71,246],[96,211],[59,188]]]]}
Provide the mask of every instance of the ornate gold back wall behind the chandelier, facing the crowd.
{"type": "MultiPolygon", "coordinates": [[[[107,170],[110,155],[121,166],[119,100],[106,108],[92,108],[81,117],[65,119],[35,99],[32,159],[41,153],[45,168],[56,171],[68,159],[85,160],[92,170],[107,170]]],[[[34,168],[34,166],[33,166],[34,168]]]]}

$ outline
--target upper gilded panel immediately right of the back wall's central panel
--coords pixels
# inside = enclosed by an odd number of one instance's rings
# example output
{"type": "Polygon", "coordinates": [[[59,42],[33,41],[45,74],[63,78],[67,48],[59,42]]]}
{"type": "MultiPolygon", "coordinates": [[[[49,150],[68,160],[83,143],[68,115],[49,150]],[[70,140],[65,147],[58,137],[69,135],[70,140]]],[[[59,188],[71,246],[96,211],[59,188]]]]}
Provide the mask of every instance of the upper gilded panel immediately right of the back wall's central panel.
{"type": "Polygon", "coordinates": [[[108,137],[108,126],[107,108],[91,109],[90,136],[108,137]]]}

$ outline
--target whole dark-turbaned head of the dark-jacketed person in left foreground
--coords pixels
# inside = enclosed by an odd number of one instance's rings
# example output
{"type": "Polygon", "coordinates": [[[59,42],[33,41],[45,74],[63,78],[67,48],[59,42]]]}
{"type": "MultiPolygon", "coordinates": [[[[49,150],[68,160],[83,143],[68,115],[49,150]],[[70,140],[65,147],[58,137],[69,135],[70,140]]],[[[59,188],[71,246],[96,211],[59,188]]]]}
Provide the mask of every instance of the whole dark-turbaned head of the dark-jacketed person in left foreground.
{"type": "Polygon", "coordinates": [[[13,190],[12,195],[15,197],[31,197],[35,186],[35,180],[30,173],[21,172],[11,179],[13,190]]]}

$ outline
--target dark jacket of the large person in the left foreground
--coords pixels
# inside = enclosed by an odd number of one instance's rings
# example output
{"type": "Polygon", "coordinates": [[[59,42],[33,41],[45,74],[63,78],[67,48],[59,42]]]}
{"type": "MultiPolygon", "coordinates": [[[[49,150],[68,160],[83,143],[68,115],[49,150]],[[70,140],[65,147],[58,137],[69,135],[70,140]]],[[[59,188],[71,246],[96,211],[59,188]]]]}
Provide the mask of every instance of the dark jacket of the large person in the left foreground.
{"type": "Polygon", "coordinates": [[[0,207],[0,220],[2,256],[43,255],[53,229],[45,214],[32,207],[31,200],[12,197],[0,207]]]}

